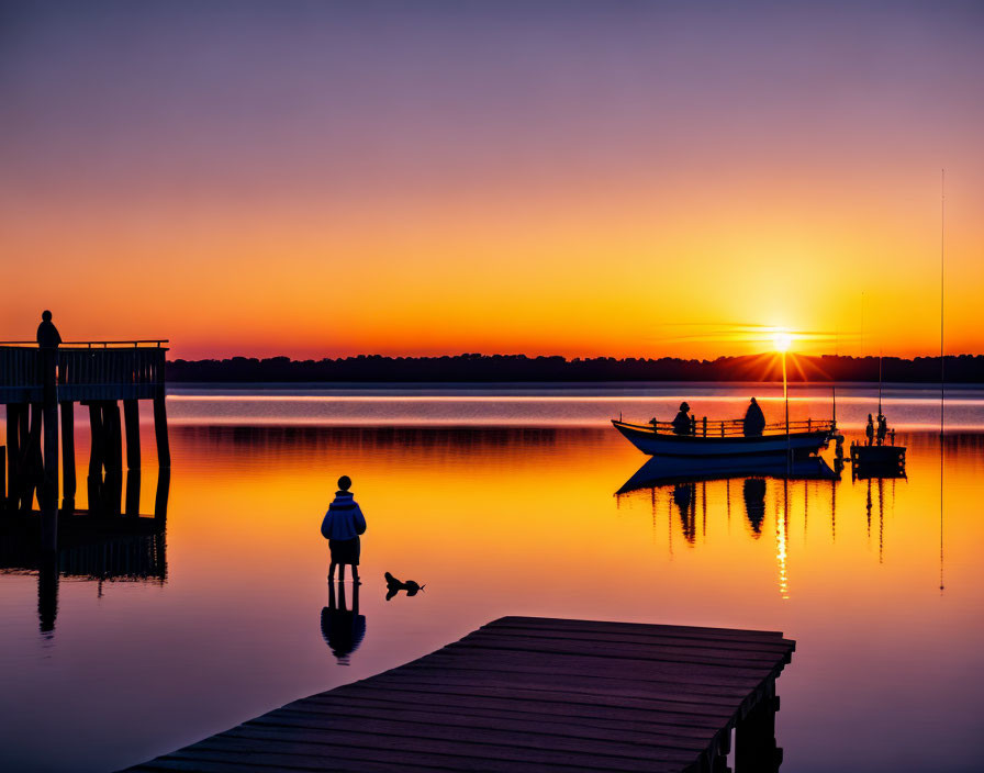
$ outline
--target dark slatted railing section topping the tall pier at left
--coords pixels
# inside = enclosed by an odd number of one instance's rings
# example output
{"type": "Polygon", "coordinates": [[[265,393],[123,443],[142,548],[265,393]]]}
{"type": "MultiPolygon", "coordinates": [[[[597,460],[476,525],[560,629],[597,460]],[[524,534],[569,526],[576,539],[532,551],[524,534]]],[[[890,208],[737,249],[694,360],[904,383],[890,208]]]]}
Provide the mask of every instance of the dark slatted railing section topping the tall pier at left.
{"type": "MultiPolygon", "coordinates": [[[[148,400],[164,385],[167,340],[68,341],[55,350],[57,400],[148,400]]],[[[44,352],[0,341],[0,403],[44,399],[44,352]]]]}

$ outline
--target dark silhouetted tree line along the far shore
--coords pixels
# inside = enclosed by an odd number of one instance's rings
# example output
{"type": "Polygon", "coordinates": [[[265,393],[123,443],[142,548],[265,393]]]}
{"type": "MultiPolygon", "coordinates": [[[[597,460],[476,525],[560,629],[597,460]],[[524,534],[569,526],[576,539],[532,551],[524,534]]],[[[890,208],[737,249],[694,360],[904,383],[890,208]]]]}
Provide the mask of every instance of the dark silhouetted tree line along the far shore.
{"type": "MultiPolygon", "coordinates": [[[[790,381],[877,381],[877,357],[787,358],[790,381]]],[[[946,358],[949,383],[984,383],[984,355],[946,358]]],[[[882,359],[886,382],[938,382],[939,357],[882,359]]],[[[172,360],[167,379],[176,382],[510,382],[510,381],[782,381],[775,355],[683,360],[525,355],[456,355],[444,357],[383,357],[359,355],[339,359],[291,360],[288,357],[224,360],[172,360]]]]}

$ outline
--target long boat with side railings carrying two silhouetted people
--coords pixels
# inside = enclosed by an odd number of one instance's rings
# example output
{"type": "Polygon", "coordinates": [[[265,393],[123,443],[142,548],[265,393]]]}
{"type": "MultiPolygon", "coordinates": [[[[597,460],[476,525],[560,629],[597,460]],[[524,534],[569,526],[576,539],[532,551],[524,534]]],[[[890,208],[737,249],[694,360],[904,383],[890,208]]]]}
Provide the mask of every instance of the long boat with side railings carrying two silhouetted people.
{"type": "Polygon", "coordinates": [[[659,457],[779,456],[795,459],[826,448],[836,436],[832,422],[806,419],[767,425],[762,435],[746,437],[741,421],[703,422],[690,435],[677,435],[669,422],[630,424],[612,419],[613,426],[642,453],[659,457]]]}

